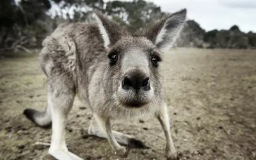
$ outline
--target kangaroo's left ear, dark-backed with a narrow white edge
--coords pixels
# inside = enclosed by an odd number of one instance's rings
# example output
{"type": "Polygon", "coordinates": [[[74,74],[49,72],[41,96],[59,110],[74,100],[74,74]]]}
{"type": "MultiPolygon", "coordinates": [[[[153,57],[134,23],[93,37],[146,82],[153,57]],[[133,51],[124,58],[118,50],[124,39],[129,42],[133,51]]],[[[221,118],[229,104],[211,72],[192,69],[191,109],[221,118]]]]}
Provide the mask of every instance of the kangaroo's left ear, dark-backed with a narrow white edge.
{"type": "Polygon", "coordinates": [[[126,31],[115,22],[114,20],[109,19],[106,15],[103,15],[97,10],[93,10],[94,17],[97,20],[99,25],[99,31],[104,40],[104,47],[108,48],[109,46],[115,44],[122,35],[125,35],[126,31]]]}

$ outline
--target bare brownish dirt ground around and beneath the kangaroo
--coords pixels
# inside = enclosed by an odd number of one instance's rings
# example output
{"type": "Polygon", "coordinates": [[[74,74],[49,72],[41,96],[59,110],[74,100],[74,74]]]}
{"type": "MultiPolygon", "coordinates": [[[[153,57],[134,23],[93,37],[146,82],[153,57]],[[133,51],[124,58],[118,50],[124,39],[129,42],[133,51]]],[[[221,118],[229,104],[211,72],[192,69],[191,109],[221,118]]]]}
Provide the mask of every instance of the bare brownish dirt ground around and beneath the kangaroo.
{"type": "MultiPolygon", "coordinates": [[[[256,51],[172,49],[161,73],[168,95],[172,136],[181,159],[256,159],[256,51]]],[[[0,159],[52,159],[51,129],[27,120],[25,108],[44,111],[46,77],[37,55],[0,59],[0,159]]],[[[67,145],[83,159],[120,159],[107,140],[86,135],[90,113],[75,101],[67,145]]],[[[131,148],[125,159],[164,159],[165,139],[155,118],[116,123],[149,149],[131,148]]]]}

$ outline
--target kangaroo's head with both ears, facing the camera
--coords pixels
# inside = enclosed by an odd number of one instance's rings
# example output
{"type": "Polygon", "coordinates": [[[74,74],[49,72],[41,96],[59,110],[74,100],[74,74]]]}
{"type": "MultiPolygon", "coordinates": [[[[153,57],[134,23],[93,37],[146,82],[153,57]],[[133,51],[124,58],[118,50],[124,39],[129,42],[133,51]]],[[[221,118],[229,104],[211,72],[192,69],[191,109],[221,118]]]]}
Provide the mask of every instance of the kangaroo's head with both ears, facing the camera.
{"type": "Polygon", "coordinates": [[[109,99],[126,108],[160,104],[162,54],[172,47],[184,26],[186,9],[157,20],[141,35],[132,35],[97,11],[95,15],[108,51],[103,83],[109,99]]]}

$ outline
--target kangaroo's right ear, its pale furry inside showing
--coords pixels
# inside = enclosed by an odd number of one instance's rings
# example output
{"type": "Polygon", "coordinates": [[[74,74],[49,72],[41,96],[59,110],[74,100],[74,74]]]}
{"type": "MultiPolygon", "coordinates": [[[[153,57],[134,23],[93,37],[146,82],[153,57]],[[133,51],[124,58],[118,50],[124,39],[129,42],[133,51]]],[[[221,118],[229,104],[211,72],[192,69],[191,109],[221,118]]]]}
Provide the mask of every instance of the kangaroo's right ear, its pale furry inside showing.
{"type": "Polygon", "coordinates": [[[161,50],[168,50],[172,47],[177,36],[184,26],[186,21],[187,10],[183,9],[172,13],[168,17],[154,23],[147,29],[144,36],[152,40],[161,50]]]}

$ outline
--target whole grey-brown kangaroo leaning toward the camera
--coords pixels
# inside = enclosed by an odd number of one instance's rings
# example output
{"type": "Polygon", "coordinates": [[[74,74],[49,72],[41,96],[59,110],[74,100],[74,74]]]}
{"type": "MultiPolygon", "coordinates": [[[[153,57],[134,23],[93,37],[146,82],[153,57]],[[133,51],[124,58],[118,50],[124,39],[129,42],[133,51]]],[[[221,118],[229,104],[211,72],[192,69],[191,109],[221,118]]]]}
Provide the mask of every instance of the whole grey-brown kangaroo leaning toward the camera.
{"type": "Polygon", "coordinates": [[[107,138],[118,156],[127,156],[124,145],[143,143],[112,131],[110,120],[152,115],[166,137],[166,158],[178,159],[159,65],[183,28],[186,14],[186,9],[172,13],[135,35],[95,10],[97,23],[60,24],[45,38],[39,61],[47,76],[47,109],[44,113],[25,109],[24,115],[40,127],[52,126],[51,156],[81,159],[68,151],[65,142],[67,115],[77,95],[93,113],[88,134],[107,138]]]}

